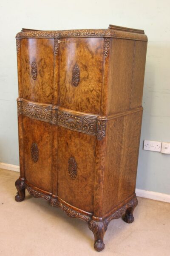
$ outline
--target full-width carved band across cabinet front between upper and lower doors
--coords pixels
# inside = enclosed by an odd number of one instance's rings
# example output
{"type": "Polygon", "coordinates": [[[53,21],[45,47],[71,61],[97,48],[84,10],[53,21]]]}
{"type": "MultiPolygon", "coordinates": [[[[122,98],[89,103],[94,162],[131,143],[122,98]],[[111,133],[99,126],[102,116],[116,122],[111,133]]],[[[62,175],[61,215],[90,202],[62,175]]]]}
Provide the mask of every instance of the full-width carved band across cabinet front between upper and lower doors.
{"type": "Polygon", "coordinates": [[[98,119],[97,115],[76,114],[58,109],[58,106],[50,104],[40,104],[18,99],[18,115],[23,114],[29,118],[51,122],[70,130],[79,131],[86,134],[96,135],[98,140],[102,140],[106,133],[106,120],[98,119]]]}

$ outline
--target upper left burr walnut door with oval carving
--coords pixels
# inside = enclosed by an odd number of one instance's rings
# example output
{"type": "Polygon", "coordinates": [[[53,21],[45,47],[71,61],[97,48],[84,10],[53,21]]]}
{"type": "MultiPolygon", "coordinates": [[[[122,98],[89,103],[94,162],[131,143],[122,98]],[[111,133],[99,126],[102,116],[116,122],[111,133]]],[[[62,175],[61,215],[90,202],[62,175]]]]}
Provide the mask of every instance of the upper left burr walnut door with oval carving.
{"type": "Polygon", "coordinates": [[[22,39],[21,64],[23,98],[52,103],[54,39],[22,39]]]}

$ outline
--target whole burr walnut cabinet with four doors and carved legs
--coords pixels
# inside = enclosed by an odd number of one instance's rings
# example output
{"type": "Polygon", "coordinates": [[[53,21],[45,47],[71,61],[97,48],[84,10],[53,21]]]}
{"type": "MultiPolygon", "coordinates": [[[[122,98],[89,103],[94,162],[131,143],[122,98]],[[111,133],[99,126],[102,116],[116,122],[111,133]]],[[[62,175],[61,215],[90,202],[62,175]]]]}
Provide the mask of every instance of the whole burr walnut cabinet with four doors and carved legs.
{"type": "Polygon", "coordinates": [[[94,248],[112,219],[132,223],[147,50],[143,30],[40,31],[17,38],[20,177],[88,223],[94,248]]]}

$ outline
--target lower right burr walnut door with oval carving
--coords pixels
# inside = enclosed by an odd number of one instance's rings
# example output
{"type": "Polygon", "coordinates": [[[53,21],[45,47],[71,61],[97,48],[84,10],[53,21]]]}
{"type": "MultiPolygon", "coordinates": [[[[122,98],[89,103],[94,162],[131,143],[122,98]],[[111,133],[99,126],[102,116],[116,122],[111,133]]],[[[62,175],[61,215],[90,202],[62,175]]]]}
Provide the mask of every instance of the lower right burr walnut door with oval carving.
{"type": "Polygon", "coordinates": [[[95,136],[58,127],[58,196],[93,212],[95,136]]]}

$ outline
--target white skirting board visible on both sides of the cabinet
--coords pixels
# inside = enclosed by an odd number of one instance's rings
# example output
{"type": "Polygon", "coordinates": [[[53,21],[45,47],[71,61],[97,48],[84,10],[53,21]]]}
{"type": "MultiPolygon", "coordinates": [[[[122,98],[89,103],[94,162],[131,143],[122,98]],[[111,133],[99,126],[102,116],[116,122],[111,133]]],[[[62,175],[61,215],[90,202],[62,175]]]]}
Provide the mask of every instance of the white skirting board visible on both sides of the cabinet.
{"type": "MultiPolygon", "coordinates": [[[[14,164],[9,164],[9,163],[0,163],[0,169],[20,172],[20,166],[16,166],[14,164]]],[[[142,198],[148,198],[156,201],[170,203],[170,195],[162,194],[159,192],[136,189],[136,195],[142,198]]]]}

